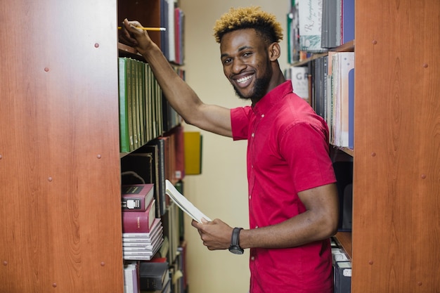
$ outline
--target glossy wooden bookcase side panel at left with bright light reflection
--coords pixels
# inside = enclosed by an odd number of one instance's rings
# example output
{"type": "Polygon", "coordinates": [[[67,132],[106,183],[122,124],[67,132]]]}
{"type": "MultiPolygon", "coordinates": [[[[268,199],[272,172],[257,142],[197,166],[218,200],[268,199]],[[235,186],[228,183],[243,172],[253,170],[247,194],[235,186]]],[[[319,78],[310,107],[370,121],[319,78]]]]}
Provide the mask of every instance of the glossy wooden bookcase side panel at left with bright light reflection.
{"type": "Polygon", "coordinates": [[[123,292],[116,1],[0,19],[0,292],[123,292]]]}

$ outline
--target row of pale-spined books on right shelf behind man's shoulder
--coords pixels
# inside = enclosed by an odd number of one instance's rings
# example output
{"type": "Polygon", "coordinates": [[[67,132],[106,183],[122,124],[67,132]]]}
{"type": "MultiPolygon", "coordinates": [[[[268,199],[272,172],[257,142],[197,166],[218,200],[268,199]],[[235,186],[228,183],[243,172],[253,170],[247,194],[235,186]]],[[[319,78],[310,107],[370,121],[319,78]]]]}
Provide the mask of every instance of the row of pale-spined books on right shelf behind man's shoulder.
{"type": "Polygon", "coordinates": [[[308,66],[288,68],[293,91],[327,122],[329,143],[354,148],[354,52],[325,53],[308,66]]]}

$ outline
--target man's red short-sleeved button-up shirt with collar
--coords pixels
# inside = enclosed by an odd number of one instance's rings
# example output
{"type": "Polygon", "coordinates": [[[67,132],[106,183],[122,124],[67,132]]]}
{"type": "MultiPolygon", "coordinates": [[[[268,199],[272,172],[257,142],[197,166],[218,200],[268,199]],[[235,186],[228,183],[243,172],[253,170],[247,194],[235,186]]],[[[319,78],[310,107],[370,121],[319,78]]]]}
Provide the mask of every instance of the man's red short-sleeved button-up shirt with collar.
{"type": "MultiPolygon", "coordinates": [[[[231,110],[233,139],[247,139],[250,228],[306,211],[298,193],[334,183],[328,126],[287,81],[254,105],[231,110]]],[[[276,235],[274,235],[276,237],[276,235]]],[[[330,293],[330,241],[286,249],[252,248],[251,293],[330,293]]]]}

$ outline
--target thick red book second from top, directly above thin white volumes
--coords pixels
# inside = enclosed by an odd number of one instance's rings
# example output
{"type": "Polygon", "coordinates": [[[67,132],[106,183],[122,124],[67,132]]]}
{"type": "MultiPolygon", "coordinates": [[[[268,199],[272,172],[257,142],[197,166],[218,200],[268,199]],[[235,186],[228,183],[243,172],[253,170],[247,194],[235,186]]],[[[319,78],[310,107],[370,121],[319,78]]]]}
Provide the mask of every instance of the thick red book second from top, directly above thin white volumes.
{"type": "Polygon", "coordinates": [[[153,200],[145,211],[122,211],[122,232],[150,232],[156,216],[155,203],[156,201],[153,200]]]}

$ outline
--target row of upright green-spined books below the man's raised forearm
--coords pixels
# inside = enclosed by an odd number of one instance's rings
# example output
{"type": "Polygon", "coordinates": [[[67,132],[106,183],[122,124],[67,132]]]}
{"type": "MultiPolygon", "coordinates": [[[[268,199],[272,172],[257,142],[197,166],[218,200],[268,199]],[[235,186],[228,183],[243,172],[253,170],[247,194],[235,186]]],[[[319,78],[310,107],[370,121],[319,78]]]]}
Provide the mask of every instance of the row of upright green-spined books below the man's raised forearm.
{"type": "MultiPolygon", "coordinates": [[[[183,70],[176,68],[184,78],[183,70]]],[[[120,152],[131,152],[161,136],[181,122],[181,117],[162,97],[148,63],[119,58],[120,152]]]]}

